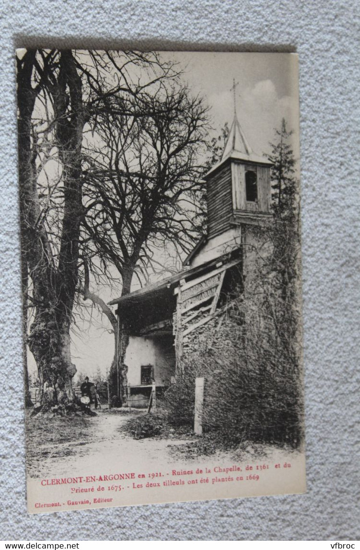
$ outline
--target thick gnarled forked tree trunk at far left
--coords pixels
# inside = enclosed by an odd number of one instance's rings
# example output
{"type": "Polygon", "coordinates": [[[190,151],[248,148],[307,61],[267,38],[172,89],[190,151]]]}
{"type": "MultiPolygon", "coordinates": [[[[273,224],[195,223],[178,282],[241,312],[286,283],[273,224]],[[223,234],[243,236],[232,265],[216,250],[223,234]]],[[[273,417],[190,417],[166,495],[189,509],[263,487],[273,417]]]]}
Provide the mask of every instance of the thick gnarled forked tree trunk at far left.
{"type": "MultiPolygon", "coordinates": [[[[34,173],[31,117],[36,92],[32,88],[35,51],[18,62],[20,222],[23,259],[32,281],[35,318],[29,348],[40,378],[41,409],[54,405],[71,408],[72,378],[76,372],[70,355],[70,323],[77,284],[81,201],[81,142],[84,127],[81,79],[71,52],[60,52],[59,73],[51,90],[59,157],[63,164],[63,219],[60,251],[54,260],[42,219],[34,173]]],[[[44,68],[43,81],[46,81],[44,68]]],[[[35,155],[34,155],[35,157],[35,155]]]]}

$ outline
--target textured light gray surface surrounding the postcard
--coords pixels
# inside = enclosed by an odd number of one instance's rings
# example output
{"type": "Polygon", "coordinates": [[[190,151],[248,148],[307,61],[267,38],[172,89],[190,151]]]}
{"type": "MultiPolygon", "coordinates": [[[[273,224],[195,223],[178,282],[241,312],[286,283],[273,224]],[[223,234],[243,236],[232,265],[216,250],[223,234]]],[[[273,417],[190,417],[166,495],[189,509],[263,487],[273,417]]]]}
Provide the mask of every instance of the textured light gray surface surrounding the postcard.
{"type": "Polygon", "coordinates": [[[356,0],[3,0],[1,11],[0,537],[357,538],[356,0]],[[30,45],[300,54],[307,494],[27,515],[14,48],[30,45]]]}

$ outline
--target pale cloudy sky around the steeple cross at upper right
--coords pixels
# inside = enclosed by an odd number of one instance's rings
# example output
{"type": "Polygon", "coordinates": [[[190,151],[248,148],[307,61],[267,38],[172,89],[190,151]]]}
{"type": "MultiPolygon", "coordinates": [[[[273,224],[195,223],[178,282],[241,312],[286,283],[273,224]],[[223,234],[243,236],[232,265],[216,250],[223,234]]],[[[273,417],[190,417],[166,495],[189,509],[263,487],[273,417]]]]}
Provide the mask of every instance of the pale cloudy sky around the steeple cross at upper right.
{"type": "Polygon", "coordinates": [[[234,116],[232,81],[236,86],[237,118],[254,152],[269,151],[274,128],[285,117],[295,130],[293,146],[298,158],[298,69],[295,54],[281,53],[163,53],[184,67],[184,80],[194,94],[211,107],[216,135],[234,116]]]}

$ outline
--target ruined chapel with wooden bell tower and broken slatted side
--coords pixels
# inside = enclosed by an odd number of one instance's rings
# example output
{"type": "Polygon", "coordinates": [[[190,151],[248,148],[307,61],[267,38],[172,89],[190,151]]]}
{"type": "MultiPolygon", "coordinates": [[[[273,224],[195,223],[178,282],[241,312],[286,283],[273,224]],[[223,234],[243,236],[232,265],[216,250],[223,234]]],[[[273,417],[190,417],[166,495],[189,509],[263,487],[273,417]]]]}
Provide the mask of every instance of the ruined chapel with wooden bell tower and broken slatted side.
{"type": "Polygon", "coordinates": [[[181,272],[110,302],[121,313],[118,372],[129,404],[146,406],[153,383],[159,393],[170,386],[198,335],[246,284],[256,228],[272,219],[271,166],[253,152],[235,114],[221,160],[204,177],[206,235],[181,272]]]}

